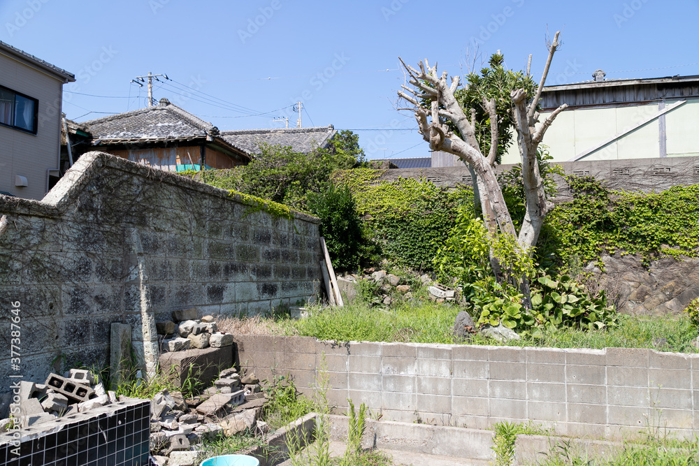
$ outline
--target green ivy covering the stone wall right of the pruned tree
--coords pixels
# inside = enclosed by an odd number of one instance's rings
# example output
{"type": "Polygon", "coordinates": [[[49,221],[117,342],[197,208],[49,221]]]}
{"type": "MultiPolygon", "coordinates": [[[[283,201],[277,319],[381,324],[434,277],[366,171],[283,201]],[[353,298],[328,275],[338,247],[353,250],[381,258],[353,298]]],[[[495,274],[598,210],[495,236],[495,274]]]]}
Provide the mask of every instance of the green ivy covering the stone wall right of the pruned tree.
{"type": "Polygon", "coordinates": [[[573,200],[549,215],[558,265],[574,270],[603,254],[640,254],[645,264],[699,256],[699,184],[660,193],[611,191],[593,177],[566,177],[573,200]]]}

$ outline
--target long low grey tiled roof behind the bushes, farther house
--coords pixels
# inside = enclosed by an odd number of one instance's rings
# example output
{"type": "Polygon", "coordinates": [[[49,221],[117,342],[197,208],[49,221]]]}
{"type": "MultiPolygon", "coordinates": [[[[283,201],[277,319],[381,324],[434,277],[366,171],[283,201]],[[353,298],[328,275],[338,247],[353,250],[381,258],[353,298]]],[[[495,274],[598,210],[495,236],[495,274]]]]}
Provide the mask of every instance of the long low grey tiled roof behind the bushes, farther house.
{"type": "Polygon", "coordinates": [[[328,147],[336,132],[333,125],[329,125],[316,128],[239,129],[221,131],[221,136],[247,154],[259,154],[261,144],[291,146],[294,152],[308,153],[317,147],[328,147]]]}

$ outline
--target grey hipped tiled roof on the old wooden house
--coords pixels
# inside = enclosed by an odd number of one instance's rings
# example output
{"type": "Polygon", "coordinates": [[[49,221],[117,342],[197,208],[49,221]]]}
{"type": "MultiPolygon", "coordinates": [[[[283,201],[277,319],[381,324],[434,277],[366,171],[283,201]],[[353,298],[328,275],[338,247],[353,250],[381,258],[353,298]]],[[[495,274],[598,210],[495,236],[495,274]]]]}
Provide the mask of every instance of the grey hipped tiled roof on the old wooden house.
{"type": "Polygon", "coordinates": [[[161,99],[153,107],[92,119],[87,126],[95,143],[115,144],[189,140],[216,136],[218,129],[191,113],[161,99]]]}

